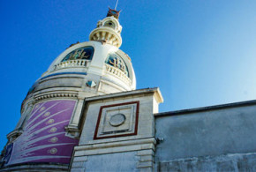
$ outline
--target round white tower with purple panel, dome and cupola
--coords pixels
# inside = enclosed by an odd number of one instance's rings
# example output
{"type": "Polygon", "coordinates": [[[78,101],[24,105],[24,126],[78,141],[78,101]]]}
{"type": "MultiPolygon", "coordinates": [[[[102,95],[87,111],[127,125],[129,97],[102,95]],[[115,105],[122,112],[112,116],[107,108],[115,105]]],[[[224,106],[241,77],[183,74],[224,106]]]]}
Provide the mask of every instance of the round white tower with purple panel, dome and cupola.
{"type": "Polygon", "coordinates": [[[2,170],[67,170],[79,144],[85,98],[136,88],[122,44],[119,11],[109,9],[89,36],[56,57],[26,95],[7,135],[2,170]]]}

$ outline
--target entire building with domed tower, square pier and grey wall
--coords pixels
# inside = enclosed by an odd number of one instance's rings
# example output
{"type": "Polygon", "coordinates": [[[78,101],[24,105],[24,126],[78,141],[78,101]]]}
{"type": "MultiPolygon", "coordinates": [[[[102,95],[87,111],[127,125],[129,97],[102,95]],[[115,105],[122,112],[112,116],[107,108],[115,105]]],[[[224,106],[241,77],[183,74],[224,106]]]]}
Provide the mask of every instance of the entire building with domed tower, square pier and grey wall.
{"type": "Polygon", "coordinates": [[[35,81],[7,135],[1,171],[256,171],[256,101],[158,113],[136,90],[119,11],[35,81]]]}

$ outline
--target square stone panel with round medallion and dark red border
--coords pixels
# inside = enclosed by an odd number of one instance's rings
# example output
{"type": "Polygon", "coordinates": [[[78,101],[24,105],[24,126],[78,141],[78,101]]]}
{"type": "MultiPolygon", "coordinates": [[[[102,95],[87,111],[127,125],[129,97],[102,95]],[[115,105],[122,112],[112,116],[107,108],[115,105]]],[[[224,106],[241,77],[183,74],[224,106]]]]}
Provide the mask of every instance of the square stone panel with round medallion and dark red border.
{"type": "Polygon", "coordinates": [[[102,106],[100,108],[94,139],[137,135],[139,101],[102,106]]]}

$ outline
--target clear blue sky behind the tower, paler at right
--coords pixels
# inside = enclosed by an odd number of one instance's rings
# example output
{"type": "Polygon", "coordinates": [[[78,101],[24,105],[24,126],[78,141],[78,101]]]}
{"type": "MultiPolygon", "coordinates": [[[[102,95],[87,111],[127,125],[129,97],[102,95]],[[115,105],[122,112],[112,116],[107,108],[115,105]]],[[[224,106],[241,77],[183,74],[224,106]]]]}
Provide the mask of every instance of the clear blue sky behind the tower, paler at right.
{"type": "MultiPolygon", "coordinates": [[[[116,0],[0,0],[0,149],[34,81],[116,0]]],[[[256,1],[119,0],[122,49],[160,112],[256,99],[256,1]]]]}

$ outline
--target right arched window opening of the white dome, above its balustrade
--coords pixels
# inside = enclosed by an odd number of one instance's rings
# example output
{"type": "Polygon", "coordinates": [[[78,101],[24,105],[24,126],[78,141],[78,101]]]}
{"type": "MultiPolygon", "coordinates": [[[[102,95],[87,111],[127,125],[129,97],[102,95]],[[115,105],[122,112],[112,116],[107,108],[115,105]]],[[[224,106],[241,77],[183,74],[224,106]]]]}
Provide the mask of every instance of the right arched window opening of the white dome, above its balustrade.
{"type": "Polygon", "coordinates": [[[118,56],[117,54],[109,54],[109,57],[105,63],[114,66],[121,71],[124,71],[124,74],[129,77],[127,65],[124,63],[124,60],[121,56],[118,56]]]}

